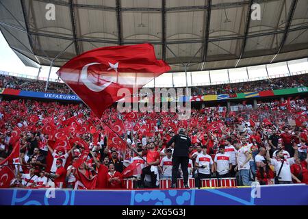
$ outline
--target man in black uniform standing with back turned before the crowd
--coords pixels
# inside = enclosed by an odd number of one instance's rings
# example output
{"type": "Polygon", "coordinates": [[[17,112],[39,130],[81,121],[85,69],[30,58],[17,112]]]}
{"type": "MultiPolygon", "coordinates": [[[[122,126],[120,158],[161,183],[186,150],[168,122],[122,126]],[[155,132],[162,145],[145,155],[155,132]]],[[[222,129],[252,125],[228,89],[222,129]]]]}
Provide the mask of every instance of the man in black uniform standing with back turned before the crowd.
{"type": "Polygon", "coordinates": [[[177,173],[179,171],[179,164],[181,164],[181,169],[183,171],[184,178],[184,188],[188,187],[188,162],[189,162],[189,152],[188,149],[192,142],[190,138],[185,135],[185,129],[179,129],[179,134],[173,136],[167,143],[170,146],[175,142],[175,149],[172,154],[172,183],[171,188],[175,188],[177,183],[177,173]]]}

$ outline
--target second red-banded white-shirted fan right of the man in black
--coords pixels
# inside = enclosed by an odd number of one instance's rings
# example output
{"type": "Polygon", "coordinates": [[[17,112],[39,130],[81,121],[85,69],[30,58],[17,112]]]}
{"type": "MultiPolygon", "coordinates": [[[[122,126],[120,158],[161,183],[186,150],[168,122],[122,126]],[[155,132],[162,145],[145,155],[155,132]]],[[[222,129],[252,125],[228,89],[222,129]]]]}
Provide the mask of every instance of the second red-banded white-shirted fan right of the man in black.
{"type": "Polygon", "coordinates": [[[219,153],[214,158],[214,168],[218,178],[230,177],[230,170],[232,168],[230,156],[224,153],[224,145],[219,146],[219,153]]]}

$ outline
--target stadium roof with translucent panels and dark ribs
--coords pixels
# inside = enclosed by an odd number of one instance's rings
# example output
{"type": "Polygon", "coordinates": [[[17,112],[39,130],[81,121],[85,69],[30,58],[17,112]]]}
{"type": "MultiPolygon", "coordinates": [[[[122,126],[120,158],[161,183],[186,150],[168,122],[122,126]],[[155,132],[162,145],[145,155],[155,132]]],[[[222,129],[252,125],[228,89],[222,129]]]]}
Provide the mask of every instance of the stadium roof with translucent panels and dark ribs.
{"type": "Polygon", "coordinates": [[[150,42],[174,72],[186,63],[189,71],[211,70],[307,57],[308,1],[1,0],[0,29],[19,57],[41,65],[57,57],[53,66],[62,66],[97,47],[150,42]],[[54,21],[45,17],[48,3],[54,21]],[[261,20],[251,19],[253,3],[261,20]]]}

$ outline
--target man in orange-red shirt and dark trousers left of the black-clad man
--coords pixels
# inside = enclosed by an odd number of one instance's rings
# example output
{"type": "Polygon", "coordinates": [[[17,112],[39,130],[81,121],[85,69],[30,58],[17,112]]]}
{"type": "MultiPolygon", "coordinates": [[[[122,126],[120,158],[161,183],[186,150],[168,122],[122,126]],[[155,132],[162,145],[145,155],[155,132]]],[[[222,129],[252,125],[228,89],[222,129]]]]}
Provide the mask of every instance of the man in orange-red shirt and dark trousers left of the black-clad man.
{"type": "MultiPolygon", "coordinates": [[[[155,151],[155,145],[153,142],[149,144],[149,150],[144,151],[144,154],[146,154],[146,162],[148,166],[142,169],[142,174],[141,174],[141,181],[144,182],[144,177],[145,175],[150,175],[151,176],[151,183],[152,183],[152,188],[156,188],[156,179],[157,175],[155,172],[151,171],[152,166],[156,166],[159,164],[159,153],[155,151]]],[[[140,154],[142,155],[142,153],[140,154]]]]}

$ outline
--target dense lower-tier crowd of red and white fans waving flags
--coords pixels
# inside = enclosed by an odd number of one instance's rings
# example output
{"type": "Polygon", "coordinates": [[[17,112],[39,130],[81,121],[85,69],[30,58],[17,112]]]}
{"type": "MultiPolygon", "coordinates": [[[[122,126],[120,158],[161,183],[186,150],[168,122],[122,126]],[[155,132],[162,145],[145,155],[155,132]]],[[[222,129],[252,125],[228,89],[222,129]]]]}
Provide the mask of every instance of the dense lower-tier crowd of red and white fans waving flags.
{"type": "MultiPolygon", "coordinates": [[[[191,118],[185,123],[175,113],[121,114],[110,108],[102,116],[110,127],[133,114],[121,136],[128,145],[123,153],[114,144],[114,138],[110,142],[107,127],[82,104],[1,101],[0,164],[18,144],[19,157],[5,163],[14,164],[15,177],[10,183],[13,188],[89,188],[90,185],[77,183],[81,178],[88,182],[97,178],[90,188],[123,188],[123,170],[136,162],[142,168],[156,166],[153,175],[170,179],[173,144],[168,142],[178,127],[184,127],[192,142],[188,172],[191,178],[197,179],[197,186],[200,186],[199,179],[210,177],[237,177],[238,185],[251,185],[253,181],[272,184],[278,172],[280,178],[276,183],[308,183],[307,103],[306,99],[296,99],[285,107],[279,101],[272,101],[241,112],[203,108],[192,110],[191,118]],[[154,124],[150,135],[134,129],[150,120],[154,124]],[[221,124],[219,129],[218,124],[221,124]],[[80,130],[68,131],[66,136],[62,133],[70,146],[55,147],[63,138],[57,138],[55,131],[48,133],[47,125],[62,132],[72,127],[80,130]],[[89,128],[90,125],[93,127],[89,128]],[[86,126],[88,128],[83,129],[86,126]],[[76,139],[83,140],[86,146],[76,139]],[[87,147],[90,153],[84,153],[87,147]],[[227,158],[219,159],[221,155],[227,158]],[[49,156],[51,166],[47,165],[49,156]],[[282,161],[283,168],[279,171],[282,161]],[[77,162],[80,164],[76,167],[77,162]]],[[[142,171],[133,172],[129,177],[136,179],[136,186],[140,188],[157,186],[157,183],[149,183],[153,177],[146,178],[142,171]]]]}

